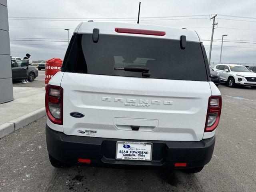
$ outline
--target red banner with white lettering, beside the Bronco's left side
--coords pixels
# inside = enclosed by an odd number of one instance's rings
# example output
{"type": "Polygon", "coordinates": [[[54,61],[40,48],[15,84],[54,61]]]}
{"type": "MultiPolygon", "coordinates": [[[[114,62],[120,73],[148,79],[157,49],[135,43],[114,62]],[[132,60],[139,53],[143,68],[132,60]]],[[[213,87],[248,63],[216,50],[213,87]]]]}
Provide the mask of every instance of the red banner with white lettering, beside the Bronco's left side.
{"type": "Polygon", "coordinates": [[[46,61],[45,64],[45,86],[48,84],[50,79],[60,71],[62,66],[62,60],[60,58],[52,58],[46,61]]]}

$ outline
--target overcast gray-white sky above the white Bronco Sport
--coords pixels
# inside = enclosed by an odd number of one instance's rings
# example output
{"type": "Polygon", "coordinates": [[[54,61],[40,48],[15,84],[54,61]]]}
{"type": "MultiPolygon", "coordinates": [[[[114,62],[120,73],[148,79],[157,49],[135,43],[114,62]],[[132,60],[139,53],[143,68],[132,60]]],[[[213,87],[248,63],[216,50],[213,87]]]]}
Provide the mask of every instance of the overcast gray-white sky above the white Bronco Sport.
{"type": "Polygon", "coordinates": [[[32,60],[54,57],[63,59],[68,44],[68,34],[64,28],[70,29],[69,38],[71,38],[74,29],[83,20],[136,22],[138,4],[141,2],[140,23],[196,30],[204,40],[207,56],[213,23],[210,17],[217,14],[218,25],[214,30],[211,62],[220,61],[221,38],[223,34],[228,34],[224,36],[222,62],[256,63],[255,0],[7,0],[7,2],[12,56],[24,57],[29,53],[32,55],[32,60]],[[32,18],[25,20],[20,17],[32,18]]]}

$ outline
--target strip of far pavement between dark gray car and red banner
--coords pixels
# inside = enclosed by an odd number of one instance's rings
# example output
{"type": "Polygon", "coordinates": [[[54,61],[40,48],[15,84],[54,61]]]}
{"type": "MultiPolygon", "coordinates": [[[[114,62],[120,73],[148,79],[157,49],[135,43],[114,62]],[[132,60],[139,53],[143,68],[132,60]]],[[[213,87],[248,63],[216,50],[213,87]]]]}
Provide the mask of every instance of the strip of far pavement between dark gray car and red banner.
{"type": "Polygon", "coordinates": [[[14,87],[44,87],[45,70],[38,71],[38,77],[28,84],[22,84],[21,81],[12,82],[14,87]]]}

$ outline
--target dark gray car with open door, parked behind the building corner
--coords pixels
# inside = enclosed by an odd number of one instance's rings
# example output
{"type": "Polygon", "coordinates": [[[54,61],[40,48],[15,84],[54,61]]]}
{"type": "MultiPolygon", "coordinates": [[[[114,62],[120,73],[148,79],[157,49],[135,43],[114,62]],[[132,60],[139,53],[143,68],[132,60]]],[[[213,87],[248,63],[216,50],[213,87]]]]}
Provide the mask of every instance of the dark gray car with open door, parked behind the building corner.
{"type": "Polygon", "coordinates": [[[38,76],[38,70],[34,66],[28,66],[28,60],[19,60],[12,63],[12,80],[34,81],[38,76]]]}

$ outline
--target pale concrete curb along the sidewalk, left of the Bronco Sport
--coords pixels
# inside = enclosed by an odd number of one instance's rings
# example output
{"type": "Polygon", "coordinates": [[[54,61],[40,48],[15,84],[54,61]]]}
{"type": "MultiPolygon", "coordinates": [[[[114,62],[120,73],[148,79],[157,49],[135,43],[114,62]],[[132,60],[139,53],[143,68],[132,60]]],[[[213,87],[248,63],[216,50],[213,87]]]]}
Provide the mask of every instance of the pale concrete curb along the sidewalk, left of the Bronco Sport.
{"type": "Polygon", "coordinates": [[[26,115],[20,116],[14,120],[6,122],[0,125],[0,138],[22,128],[23,126],[30,124],[31,122],[38,120],[46,115],[45,108],[40,108],[26,115]]]}

